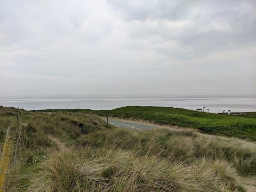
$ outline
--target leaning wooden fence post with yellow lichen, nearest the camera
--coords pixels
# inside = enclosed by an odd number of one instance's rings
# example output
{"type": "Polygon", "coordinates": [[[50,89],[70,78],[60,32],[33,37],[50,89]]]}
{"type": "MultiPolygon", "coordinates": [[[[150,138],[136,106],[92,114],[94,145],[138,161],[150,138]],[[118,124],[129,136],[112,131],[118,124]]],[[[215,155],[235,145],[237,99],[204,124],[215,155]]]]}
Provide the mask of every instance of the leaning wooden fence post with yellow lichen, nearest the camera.
{"type": "Polygon", "coordinates": [[[0,161],[0,192],[5,192],[17,129],[8,127],[0,161]]]}

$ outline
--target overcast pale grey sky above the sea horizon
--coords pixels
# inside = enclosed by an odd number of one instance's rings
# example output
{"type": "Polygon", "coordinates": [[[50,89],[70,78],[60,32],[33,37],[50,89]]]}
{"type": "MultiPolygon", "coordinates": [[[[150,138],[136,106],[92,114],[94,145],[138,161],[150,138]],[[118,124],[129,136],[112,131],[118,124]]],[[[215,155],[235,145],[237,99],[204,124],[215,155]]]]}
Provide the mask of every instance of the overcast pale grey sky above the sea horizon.
{"type": "Polygon", "coordinates": [[[256,1],[0,0],[0,95],[256,93],[256,1]]]}

